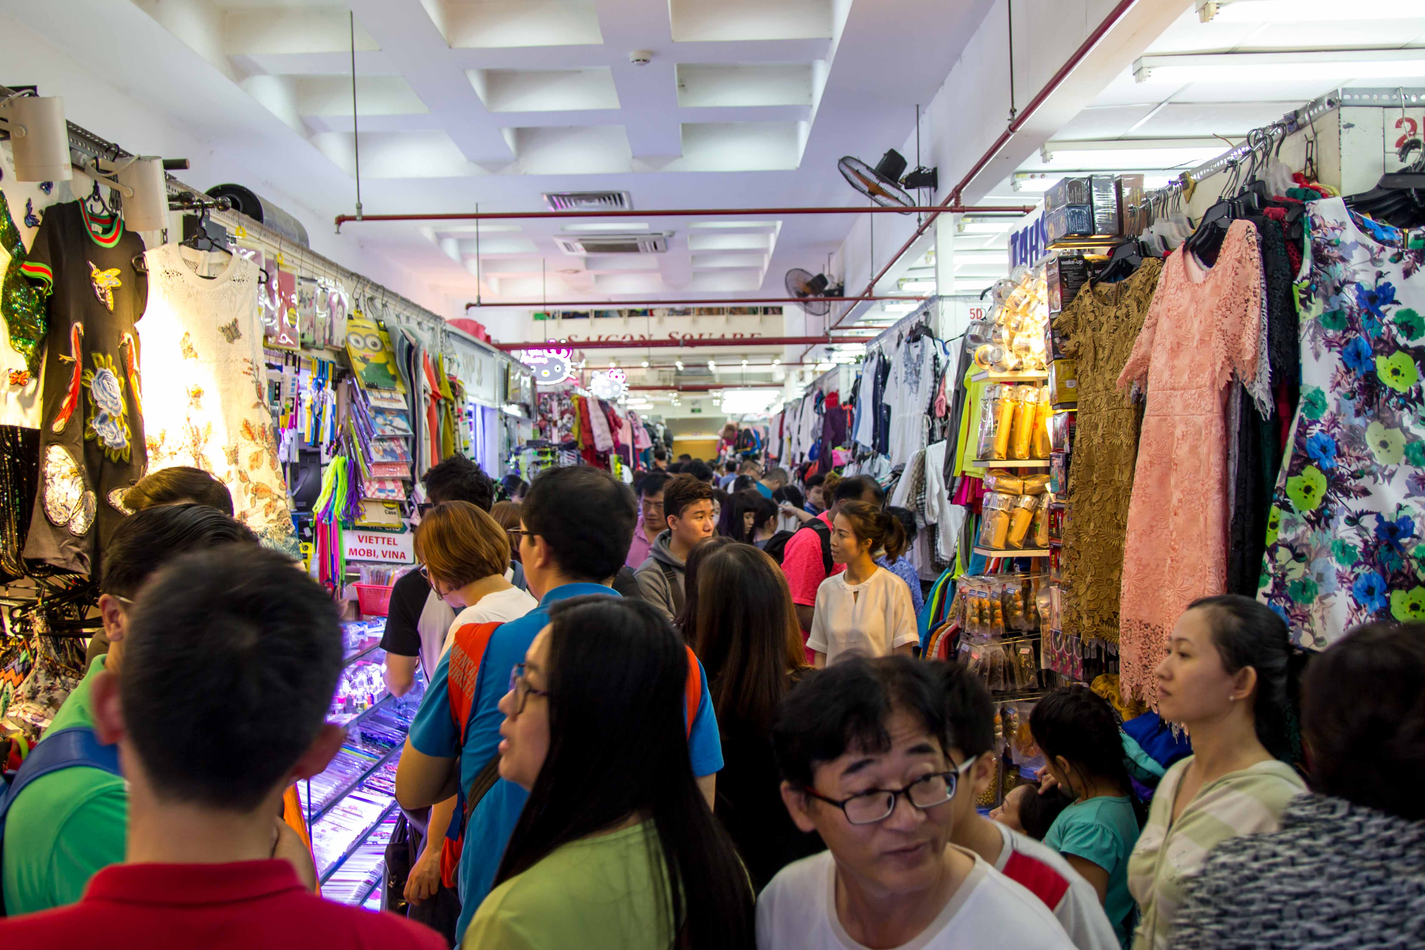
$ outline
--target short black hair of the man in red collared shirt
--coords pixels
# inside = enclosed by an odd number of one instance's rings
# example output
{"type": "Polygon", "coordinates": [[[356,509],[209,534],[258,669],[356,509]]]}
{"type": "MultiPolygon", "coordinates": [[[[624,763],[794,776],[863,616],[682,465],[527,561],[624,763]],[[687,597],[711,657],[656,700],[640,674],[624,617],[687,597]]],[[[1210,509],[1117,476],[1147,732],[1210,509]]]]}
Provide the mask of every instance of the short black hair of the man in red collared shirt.
{"type": "Polygon", "coordinates": [[[118,677],[165,800],[251,812],[316,739],[342,668],[332,598],[249,546],[187,554],[144,587],[118,677]]]}

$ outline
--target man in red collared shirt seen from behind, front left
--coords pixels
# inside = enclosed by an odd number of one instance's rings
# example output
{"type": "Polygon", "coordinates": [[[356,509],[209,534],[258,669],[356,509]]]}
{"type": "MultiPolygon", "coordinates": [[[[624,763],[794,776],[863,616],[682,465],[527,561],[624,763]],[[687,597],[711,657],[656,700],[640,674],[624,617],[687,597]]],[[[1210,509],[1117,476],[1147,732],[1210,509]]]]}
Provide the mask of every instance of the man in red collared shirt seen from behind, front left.
{"type": "MultiPolygon", "coordinates": [[[[345,731],[336,608],[281,554],[178,558],[135,597],[124,665],[91,688],[128,781],[123,865],[77,904],[0,920],[0,946],[443,950],[433,930],[309,893],[278,853],[282,792],[345,731]]],[[[309,872],[309,859],[306,870],[309,872]]]]}

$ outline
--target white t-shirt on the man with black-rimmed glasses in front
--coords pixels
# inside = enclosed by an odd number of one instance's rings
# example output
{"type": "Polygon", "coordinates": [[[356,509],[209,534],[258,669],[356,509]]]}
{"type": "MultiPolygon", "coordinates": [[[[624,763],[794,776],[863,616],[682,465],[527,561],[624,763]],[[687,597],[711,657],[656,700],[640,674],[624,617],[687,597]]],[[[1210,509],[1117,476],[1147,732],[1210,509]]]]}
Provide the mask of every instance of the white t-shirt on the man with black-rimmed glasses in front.
{"type": "MultiPolygon", "coordinates": [[[[953,847],[953,845],[950,846],[953,847]]],[[[960,849],[960,853],[973,856],[960,849]]],[[[1073,950],[1043,902],[975,857],[975,867],[918,937],[898,950],[1073,950]]],[[[836,862],[794,862],[757,899],[758,950],[865,950],[836,916],[836,862]]]]}

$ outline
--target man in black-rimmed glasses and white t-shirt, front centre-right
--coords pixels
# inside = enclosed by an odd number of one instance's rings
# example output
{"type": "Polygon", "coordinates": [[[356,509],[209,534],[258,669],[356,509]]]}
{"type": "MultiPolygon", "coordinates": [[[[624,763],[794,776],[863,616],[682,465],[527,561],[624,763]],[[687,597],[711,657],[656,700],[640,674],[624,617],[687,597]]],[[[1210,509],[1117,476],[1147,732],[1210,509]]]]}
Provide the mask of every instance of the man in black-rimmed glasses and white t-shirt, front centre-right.
{"type": "Polygon", "coordinates": [[[854,657],[817,671],[782,699],[772,745],[787,810],[828,850],[762,892],[761,950],[1073,947],[1035,894],[952,843],[982,756],[953,756],[939,664],[854,657]]]}

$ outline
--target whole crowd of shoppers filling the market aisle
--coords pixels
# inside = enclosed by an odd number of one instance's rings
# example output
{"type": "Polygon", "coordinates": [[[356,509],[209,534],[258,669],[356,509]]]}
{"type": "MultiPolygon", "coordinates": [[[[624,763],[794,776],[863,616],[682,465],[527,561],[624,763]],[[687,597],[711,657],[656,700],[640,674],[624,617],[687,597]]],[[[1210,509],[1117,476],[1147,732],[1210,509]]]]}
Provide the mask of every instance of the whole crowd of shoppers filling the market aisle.
{"type": "Polygon", "coordinates": [[[896,567],[913,516],[884,510],[858,476],[808,484],[829,504],[814,514],[798,499],[807,517],[778,531],[788,474],[755,466],[720,523],[698,466],[647,473],[636,491],[591,467],[500,489],[463,459],[426,474],[388,682],[429,679],[396,796],[426,833],[410,916],[446,897],[459,919],[443,934],[311,893],[309,845],[284,806],[343,739],[323,722],[336,611],[222,513],[219,483],[150,476],[104,551],[107,652],[31,753],[43,763],[81,742],[88,758],[16,778],[0,940],[1198,950],[1425,937],[1425,625],[1352,631],[1298,689],[1302,659],[1277,614],[1197,601],[1156,671],[1159,712],[1193,753],[1147,815],[1114,706],[1067,687],[1029,716],[1040,781],[983,818],[995,705],[966,667],[908,655],[918,578],[896,567]]]}

